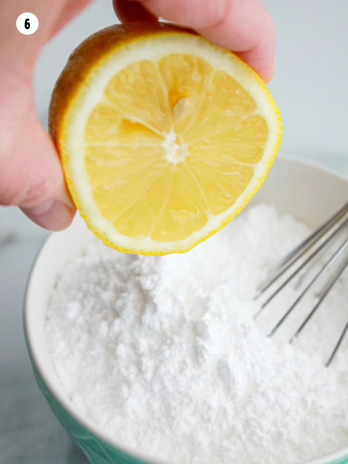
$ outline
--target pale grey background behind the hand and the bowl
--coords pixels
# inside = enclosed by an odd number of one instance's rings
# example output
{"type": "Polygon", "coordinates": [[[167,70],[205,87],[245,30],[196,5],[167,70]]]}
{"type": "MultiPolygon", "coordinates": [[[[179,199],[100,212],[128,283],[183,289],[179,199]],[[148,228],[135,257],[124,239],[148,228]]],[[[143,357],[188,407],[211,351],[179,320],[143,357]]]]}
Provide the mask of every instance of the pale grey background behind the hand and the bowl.
{"type": "MultiPolygon", "coordinates": [[[[283,116],[281,152],[348,174],[348,2],[265,4],[277,27],[270,90],[283,116]]],[[[111,0],[95,1],[43,50],[34,86],[44,125],[53,85],[73,48],[115,22],[111,0]]],[[[86,463],[41,397],[24,343],[26,279],[46,234],[15,208],[0,208],[0,464],[86,463]]]]}

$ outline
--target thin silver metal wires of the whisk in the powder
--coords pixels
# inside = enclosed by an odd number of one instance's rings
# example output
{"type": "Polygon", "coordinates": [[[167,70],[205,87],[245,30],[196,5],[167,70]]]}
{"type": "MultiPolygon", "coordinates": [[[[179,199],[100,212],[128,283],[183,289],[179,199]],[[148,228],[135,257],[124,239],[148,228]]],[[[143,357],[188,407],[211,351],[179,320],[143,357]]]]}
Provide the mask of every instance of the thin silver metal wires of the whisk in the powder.
{"type": "MultiPolygon", "coordinates": [[[[277,296],[284,287],[290,283],[290,281],[301,272],[307,264],[309,264],[319,253],[322,251],[333,239],[338,236],[342,230],[348,230],[348,202],[342,206],[342,208],[335,213],[328,221],[326,221],[322,226],[316,229],[308,238],[306,238],[300,245],[296,246],[294,250],[292,250],[283,260],[275,266],[275,268],[271,271],[269,277],[259,286],[258,294],[255,299],[260,298],[267,290],[272,290],[273,287],[276,287],[275,290],[271,291],[271,295],[266,299],[266,301],[262,304],[258,313],[254,316],[256,319],[266,308],[266,306],[271,303],[273,298],[277,296]],[[322,242],[320,243],[320,241],[322,242]],[[317,245],[317,246],[316,246],[317,245]],[[305,258],[306,253],[309,253],[309,256],[305,258]],[[301,258],[303,258],[303,262],[301,263],[301,258]],[[297,267],[296,264],[300,263],[297,267]],[[292,267],[296,267],[294,271],[291,271],[292,267]],[[290,275],[285,278],[284,282],[279,283],[279,279],[284,276],[284,274],[289,271],[290,275]]],[[[281,327],[281,325],[285,322],[285,320],[290,316],[292,311],[296,308],[298,303],[303,299],[303,297],[308,293],[308,291],[313,287],[316,281],[321,277],[334,263],[335,261],[342,255],[342,253],[348,247],[348,238],[344,240],[344,242],[339,246],[339,248],[332,254],[332,256],[325,262],[322,268],[316,273],[316,275],[310,280],[309,284],[306,285],[304,290],[300,293],[300,295],[296,298],[294,303],[291,304],[290,308],[284,313],[284,316],[277,322],[277,324],[273,327],[271,332],[268,336],[274,335],[277,330],[281,327]]],[[[320,296],[319,300],[316,302],[314,307],[311,309],[309,314],[306,316],[303,323],[300,327],[296,330],[295,334],[291,337],[290,343],[293,342],[296,337],[302,332],[304,327],[307,325],[309,320],[315,314],[316,310],[322,304],[326,296],[329,294],[330,290],[335,286],[335,284],[340,280],[343,274],[348,270],[348,258],[345,259],[343,264],[340,268],[336,271],[333,280],[330,282],[329,286],[324,290],[322,295],[320,296]]],[[[344,326],[342,333],[338,339],[338,342],[335,345],[332,353],[329,356],[328,361],[326,362],[325,366],[328,367],[331,361],[334,359],[337,350],[339,349],[344,336],[346,335],[348,330],[348,322],[344,326]]]]}

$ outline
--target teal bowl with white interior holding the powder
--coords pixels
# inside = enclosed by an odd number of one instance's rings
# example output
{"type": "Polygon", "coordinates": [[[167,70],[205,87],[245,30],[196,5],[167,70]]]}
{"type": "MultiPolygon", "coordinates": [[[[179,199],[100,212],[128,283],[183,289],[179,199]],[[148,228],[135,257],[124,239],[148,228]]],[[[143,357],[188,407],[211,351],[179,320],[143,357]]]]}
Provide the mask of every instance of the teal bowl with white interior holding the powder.
{"type": "MultiPolygon", "coordinates": [[[[348,180],[315,165],[279,157],[250,204],[271,203],[281,213],[291,213],[316,227],[347,199],[348,180]]],[[[90,238],[91,232],[77,216],[69,229],[50,235],[33,265],[26,291],[24,325],[35,378],[52,411],[92,464],[168,464],[164,459],[122,445],[77,412],[59,384],[49,358],[44,326],[53,284],[59,270],[80,254],[90,238]]],[[[348,463],[348,446],[310,463],[348,463]]]]}

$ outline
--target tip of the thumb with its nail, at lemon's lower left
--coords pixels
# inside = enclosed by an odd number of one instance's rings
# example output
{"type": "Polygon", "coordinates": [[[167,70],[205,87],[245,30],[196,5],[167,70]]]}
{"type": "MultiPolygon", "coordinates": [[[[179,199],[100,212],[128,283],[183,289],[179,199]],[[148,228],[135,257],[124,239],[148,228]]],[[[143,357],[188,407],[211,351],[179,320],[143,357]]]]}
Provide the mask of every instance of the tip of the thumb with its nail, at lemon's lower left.
{"type": "Polygon", "coordinates": [[[44,229],[58,232],[70,226],[75,209],[60,200],[52,200],[39,206],[20,208],[35,224],[44,229]]]}

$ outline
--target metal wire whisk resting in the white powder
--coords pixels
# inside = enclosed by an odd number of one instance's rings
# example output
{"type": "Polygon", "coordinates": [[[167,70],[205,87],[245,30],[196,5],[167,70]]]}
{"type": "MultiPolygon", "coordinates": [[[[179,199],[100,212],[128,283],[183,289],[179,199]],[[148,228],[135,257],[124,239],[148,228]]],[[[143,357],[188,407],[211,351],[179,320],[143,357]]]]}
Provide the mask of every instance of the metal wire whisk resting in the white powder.
{"type": "MultiPolygon", "coordinates": [[[[262,296],[266,297],[261,309],[254,316],[256,319],[262,311],[271,303],[273,298],[277,296],[289,283],[294,279],[295,276],[300,275],[302,272],[306,275],[306,270],[309,266],[313,265],[315,258],[317,259],[322,254],[330,251],[330,256],[324,260],[324,264],[316,271],[314,277],[312,277],[305,288],[296,297],[295,301],[290,305],[290,308],[286,310],[284,315],[274,325],[269,332],[268,336],[274,335],[277,330],[282,326],[285,320],[290,316],[298,304],[303,300],[304,296],[308,294],[309,290],[312,289],[314,284],[319,278],[328,277],[329,270],[331,269],[330,280],[326,280],[326,286],[324,286],[318,297],[318,300],[314,304],[313,308],[310,309],[308,315],[304,321],[298,327],[294,335],[292,335],[290,342],[293,342],[296,337],[303,331],[305,326],[308,324],[310,319],[316,313],[316,310],[322,304],[324,299],[328,296],[329,292],[333,289],[335,284],[341,279],[343,274],[348,270],[348,253],[344,253],[348,247],[348,202],[335,213],[327,222],[322,224],[315,232],[313,232],[308,238],[306,238],[300,245],[298,245],[293,251],[291,251],[285,258],[277,264],[269,273],[268,278],[258,287],[258,294],[255,299],[260,299],[262,296]],[[335,264],[335,266],[334,266],[335,264]]],[[[332,350],[328,361],[325,366],[328,367],[331,361],[334,359],[335,354],[340,348],[344,336],[348,330],[348,322],[344,326],[338,341],[332,350]]]]}

